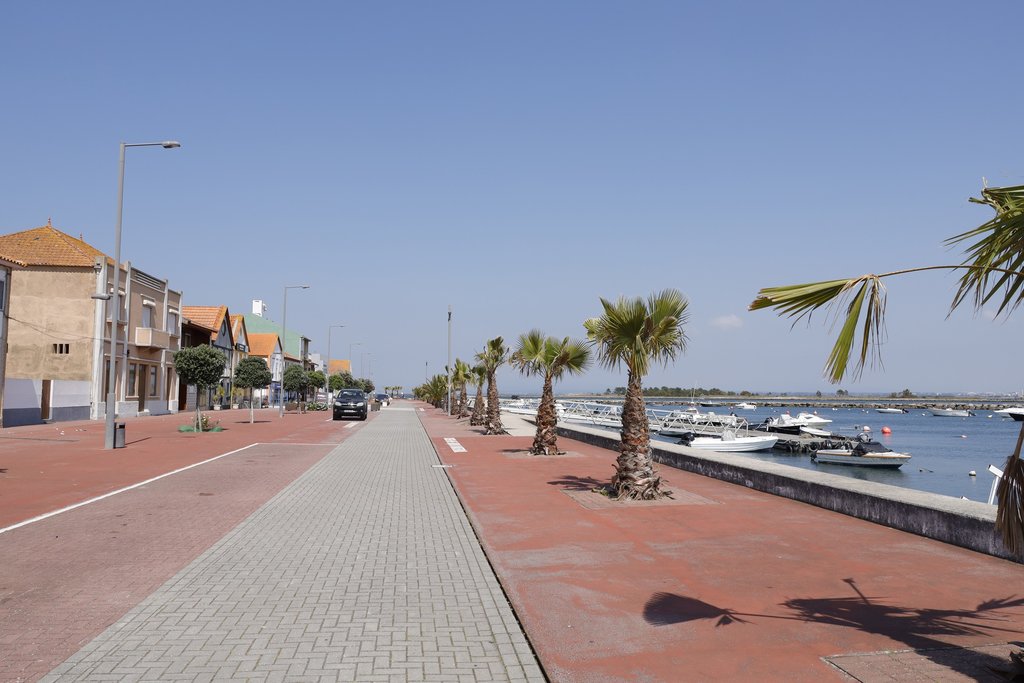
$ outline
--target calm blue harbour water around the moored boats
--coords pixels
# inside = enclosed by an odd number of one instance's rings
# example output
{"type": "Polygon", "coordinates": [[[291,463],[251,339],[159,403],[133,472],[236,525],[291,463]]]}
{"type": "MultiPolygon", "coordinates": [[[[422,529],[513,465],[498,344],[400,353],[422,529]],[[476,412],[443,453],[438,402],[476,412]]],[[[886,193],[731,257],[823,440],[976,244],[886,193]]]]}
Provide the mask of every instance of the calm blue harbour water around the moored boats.
{"type": "MultiPolygon", "coordinates": [[[[700,410],[714,411],[720,415],[729,411],[727,408],[700,410]]],[[[811,412],[814,409],[791,409],[790,412],[796,415],[801,410],[811,412]]],[[[755,425],[780,412],[780,409],[759,407],[756,411],[736,411],[736,415],[746,418],[751,425],[755,425]]],[[[1021,423],[999,416],[989,418],[991,413],[988,411],[979,411],[973,418],[937,418],[924,411],[882,415],[873,410],[819,408],[816,412],[818,416],[833,421],[822,428],[852,436],[859,431],[860,425],[867,425],[877,441],[893,451],[908,453],[913,458],[898,470],[872,470],[843,465],[819,465],[811,461],[810,455],[791,455],[776,451],[741,455],[984,503],[988,501],[993,479],[988,466],[995,465],[1002,469],[1007,457],[1017,444],[1021,427],[1021,423]],[[892,434],[882,434],[884,426],[889,427],[892,434]],[[977,472],[977,476],[970,476],[968,472],[971,470],[977,472]]],[[[678,440],[654,434],[651,436],[665,441],[678,440]]]]}

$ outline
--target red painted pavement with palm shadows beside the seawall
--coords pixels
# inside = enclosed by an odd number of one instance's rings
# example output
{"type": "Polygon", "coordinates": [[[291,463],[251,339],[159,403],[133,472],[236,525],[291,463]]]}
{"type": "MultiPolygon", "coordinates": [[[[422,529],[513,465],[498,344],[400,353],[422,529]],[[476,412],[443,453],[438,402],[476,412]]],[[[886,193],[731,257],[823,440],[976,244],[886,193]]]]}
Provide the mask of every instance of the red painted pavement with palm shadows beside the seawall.
{"type": "Polygon", "coordinates": [[[1019,564],[668,467],[675,503],[608,505],[615,453],[420,416],[553,680],[974,680],[1024,640],[1019,564]]]}

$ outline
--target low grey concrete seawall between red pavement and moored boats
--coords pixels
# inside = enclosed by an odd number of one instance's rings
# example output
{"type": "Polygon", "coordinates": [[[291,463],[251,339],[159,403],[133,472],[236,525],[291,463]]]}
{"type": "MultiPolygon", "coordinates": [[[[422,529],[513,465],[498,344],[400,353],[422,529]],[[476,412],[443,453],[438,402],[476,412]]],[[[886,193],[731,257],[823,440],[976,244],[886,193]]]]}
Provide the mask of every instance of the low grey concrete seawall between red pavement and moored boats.
{"type": "MultiPolygon", "coordinates": [[[[560,424],[558,434],[603,449],[618,450],[617,432],[560,424]]],[[[995,506],[992,505],[674,443],[652,441],[651,455],[654,462],[662,465],[809,503],[979,553],[1022,561],[1010,555],[996,535],[995,506]]]]}

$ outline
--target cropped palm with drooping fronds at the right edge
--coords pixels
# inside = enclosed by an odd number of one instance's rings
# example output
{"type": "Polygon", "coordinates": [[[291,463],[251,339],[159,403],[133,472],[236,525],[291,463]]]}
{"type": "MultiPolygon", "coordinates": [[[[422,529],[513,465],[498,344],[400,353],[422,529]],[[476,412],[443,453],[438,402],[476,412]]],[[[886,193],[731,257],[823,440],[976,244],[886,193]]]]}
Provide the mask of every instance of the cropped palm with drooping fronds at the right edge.
{"type": "MultiPolygon", "coordinates": [[[[864,274],[805,285],[767,287],[758,292],[751,310],[773,308],[779,315],[810,319],[819,308],[833,310],[843,319],[839,337],[825,360],[825,377],[839,383],[850,369],[853,348],[860,340],[853,362],[854,377],[863,373],[868,358],[880,360],[879,351],[885,337],[886,291],[882,280],[925,270],[962,270],[959,287],[949,305],[952,312],[967,300],[980,311],[990,301],[998,303],[997,315],[1009,315],[1024,303],[1024,185],[985,187],[976,204],[986,204],[995,216],[978,227],[946,240],[946,246],[971,243],[964,261],[956,265],[930,265],[864,274]],[[845,309],[845,310],[844,310],[845,309]],[[861,319],[863,316],[863,319],[861,319]]],[[[1024,424],[1017,446],[1007,460],[1004,476],[997,488],[999,505],[995,525],[1002,535],[1007,550],[1024,555],[1024,424]]]]}

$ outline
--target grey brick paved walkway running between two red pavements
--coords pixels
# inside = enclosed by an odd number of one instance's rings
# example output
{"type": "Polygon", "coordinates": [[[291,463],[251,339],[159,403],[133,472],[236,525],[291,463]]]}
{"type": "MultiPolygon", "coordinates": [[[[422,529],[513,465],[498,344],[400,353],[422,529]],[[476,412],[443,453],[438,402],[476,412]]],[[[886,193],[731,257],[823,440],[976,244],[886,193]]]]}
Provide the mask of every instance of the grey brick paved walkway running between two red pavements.
{"type": "Polygon", "coordinates": [[[385,411],[44,680],[544,680],[437,464],[385,411]]]}

